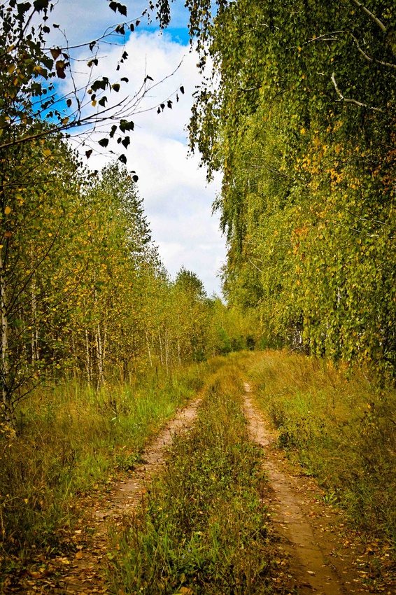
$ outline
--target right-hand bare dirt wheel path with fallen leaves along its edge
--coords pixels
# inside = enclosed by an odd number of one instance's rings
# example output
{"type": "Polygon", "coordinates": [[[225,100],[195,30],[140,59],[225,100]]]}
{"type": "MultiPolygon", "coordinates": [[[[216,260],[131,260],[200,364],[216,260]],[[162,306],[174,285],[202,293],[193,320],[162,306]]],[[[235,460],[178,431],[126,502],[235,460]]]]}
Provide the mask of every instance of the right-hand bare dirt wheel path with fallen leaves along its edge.
{"type": "MultiPolygon", "coordinates": [[[[244,385],[249,435],[264,448],[263,465],[269,477],[270,510],[288,553],[290,572],[297,580],[298,593],[373,592],[374,589],[362,583],[367,575],[364,552],[341,538],[342,519],[332,507],[320,504],[322,493],[315,482],[293,474],[276,449],[271,448],[275,435],[253,405],[250,385],[244,385]]],[[[387,592],[385,589],[381,591],[387,592]]]]}

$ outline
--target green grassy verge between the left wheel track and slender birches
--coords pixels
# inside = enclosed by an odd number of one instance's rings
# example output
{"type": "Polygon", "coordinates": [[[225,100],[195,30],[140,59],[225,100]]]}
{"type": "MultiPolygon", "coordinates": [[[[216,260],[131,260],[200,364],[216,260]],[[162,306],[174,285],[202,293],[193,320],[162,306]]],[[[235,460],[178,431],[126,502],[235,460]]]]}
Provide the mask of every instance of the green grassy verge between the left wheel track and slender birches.
{"type": "Polygon", "coordinates": [[[99,393],[71,382],[41,389],[0,433],[0,569],[67,547],[79,500],[139,461],[151,435],[195,395],[206,365],[99,393]]]}

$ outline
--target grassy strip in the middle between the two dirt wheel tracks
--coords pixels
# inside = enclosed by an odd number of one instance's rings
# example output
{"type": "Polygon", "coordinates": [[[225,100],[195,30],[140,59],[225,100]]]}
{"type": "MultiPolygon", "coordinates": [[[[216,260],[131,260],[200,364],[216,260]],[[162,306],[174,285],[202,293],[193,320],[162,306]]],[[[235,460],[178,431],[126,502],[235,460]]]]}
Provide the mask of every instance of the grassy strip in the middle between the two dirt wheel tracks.
{"type": "Polygon", "coordinates": [[[143,509],[114,535],[111,592],[274,592],[264,475],[241,413],[239,374],[228,365],[208,386],[143,509]]]}

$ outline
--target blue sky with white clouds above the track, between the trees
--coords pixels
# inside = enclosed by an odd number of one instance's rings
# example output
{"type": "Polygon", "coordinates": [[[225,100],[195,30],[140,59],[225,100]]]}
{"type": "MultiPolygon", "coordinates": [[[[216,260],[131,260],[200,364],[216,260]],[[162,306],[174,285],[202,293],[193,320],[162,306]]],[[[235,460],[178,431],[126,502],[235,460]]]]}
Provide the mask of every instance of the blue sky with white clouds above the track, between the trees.
{"type": "MultiPolygon", "coordinates": [[[[141,0],[125,0],[124,3],[128,20],[139,18],[146,7],[141,0]]],[[[208,295],[213,292],[220,295],[218,272],[225,261],[225,238],[219,230],[218,216],[211,214],[213,200],[220,190],[220,174],[208,185],[205,169],[199,168],[199,156],[188,157],[186,126],[192,93],[199,85],[200,75],[197,54],[191,52],[188,45],[188,14],[183,4],[181,0],[172,3],[171,27],[163,34],[154,23],[148,26],[141,20],[124,45],[102,46],[98,54],[99,66],[93,73],[95,77],[105,74],[111,81],[121,76],[129,79],[128,83],[122,83],[119,93],[111,94],[110,104],[128,94],[133,96],[146,75],[153,78],[153,83],[148,83],[156,85],[181,64],[173,76],[155,86],[135,106],[134,112],[143,113],[133,113],[131,117],[135,129],[131,133],[131,145],[125,151],[127,167],[139,176],[139,195],[143,197],[153,239],[169,274],[176,276],[183,266],[199,276],[208,295]],[[127,51],[128,59],[116,72],[123,51],[127,51]],[[184,94],[180,92],[181,85],[184,94]],[[176,103],[177,90],[180,101],[176,103]],[[145,111],[169,97],[173,99],[172,109],[165,108],[160,114],[156,110],[145,111]]],[[[69,45],[92,41],[106,27],[122,20],[124,17],[108,8],[107,0],[59,0],[50,15],[50,22],[66,31],[69,45]]],[[[59,38],[52,37],[50,41],[57,45],[59,38]]],[[[64,40],[60,43],[64,45],[64,40]]],[[[83,86],[89,72],[86,58],[92,55],[87,48],[74,50],[73,55],[80,59],[73,62],[75,80],[83,86]]],[[[64,91],[70,90],[70,79],[62,84],[64,91]]],[[[110,125],[107,130],[109,128],[110,125]]],[[[102,137],[103,131],[98,132],[96,138],[102,137]]],[[[82,148],[83,155],[86,148],[82,148]]],[[[120,146],[114,148],[119,151],[120,146]]],[[[111,158],[111,153],[94,151],[89,165],[99,169],[111,158]]]]}

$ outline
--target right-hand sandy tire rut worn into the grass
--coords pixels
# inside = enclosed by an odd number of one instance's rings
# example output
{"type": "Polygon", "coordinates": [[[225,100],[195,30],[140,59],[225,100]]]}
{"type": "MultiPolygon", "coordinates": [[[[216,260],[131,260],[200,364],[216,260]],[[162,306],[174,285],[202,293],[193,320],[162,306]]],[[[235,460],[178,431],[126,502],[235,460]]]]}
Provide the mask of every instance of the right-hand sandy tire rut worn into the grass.
{"type": "MultiPolygon", "coordinates": [[[[271,490],[269,508],[274,515],[273,521],[278,534],[281,535],[288,552],[290,571],[298,582],[298,593],[346,595],[369,592],[355,569],[351,568],[343,557],[337,556],[337,566],[333,560],[330,561],[329,556],[334,553],[337,542],[339,545],[339,537],[320,532],[324,531],[323,526],[320,526],[318,531],[318,527],[308,516],[311,512],[308,492],[315,488],[308,484],[309,480],[302,480],[302,485],[298,485],[296,477],[291,477],[281,469],[271,451],[275,435],[267,427],[261,412],[253,405],[250,385],[247,382],[243,384],[244,413],[248,420],[249,437],[264,449],[263,467],[267,472],[271,490]]],[[[319,516],[317,506],[311,514],[319,516]]],[[[333,521],[337,523],[337,517],[334,516],[333,521]]]]}

